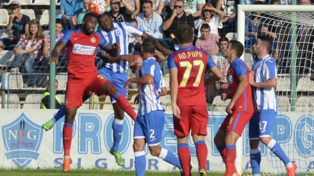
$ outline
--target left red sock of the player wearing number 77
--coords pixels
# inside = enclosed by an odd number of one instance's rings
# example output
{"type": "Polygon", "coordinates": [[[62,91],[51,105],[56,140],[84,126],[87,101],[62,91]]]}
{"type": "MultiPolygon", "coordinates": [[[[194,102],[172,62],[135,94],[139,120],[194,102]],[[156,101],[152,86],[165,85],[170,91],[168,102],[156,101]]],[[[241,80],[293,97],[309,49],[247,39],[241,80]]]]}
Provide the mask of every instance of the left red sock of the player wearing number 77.
{"type": "Polygon", "coordinates": [[[178,144],[178,156],[180,160],[180,164],[184,173],[184,176],[191,176],[191,156],[190,150],[188,149],[187,144],[178,144]]]}

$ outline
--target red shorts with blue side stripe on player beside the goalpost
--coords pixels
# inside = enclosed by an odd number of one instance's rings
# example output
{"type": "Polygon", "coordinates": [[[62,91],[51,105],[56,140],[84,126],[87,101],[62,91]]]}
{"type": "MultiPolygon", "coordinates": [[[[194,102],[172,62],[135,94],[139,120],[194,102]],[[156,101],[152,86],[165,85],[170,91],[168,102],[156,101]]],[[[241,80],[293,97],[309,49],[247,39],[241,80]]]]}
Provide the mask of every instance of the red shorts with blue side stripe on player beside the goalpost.
{"type": "Polygon", "coordinates": [[[253,112],[234,111],[226,116],[219,129],[225,132],[236,132],[241,136],[252,115],[253,112]]]}

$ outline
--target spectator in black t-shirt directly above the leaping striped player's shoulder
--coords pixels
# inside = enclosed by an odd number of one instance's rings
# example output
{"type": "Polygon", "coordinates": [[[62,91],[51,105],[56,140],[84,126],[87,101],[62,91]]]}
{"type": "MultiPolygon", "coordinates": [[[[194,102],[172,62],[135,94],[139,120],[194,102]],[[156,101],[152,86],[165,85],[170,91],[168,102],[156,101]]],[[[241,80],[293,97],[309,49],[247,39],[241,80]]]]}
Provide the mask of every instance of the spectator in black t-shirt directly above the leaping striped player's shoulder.
{"type": "Polygon", "coordinates": [[[128,0],[111,0],[109,15],[112,22],[129,22],[135,7],[128,0]],[[121,7],[123,3],[123,7],[121,7]]]}

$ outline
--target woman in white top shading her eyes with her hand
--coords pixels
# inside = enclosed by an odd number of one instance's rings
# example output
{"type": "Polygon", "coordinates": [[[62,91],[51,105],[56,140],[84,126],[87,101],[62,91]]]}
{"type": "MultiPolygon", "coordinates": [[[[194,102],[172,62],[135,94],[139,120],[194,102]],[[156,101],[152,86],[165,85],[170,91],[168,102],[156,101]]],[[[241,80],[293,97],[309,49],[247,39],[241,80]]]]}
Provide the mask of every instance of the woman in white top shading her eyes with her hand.
{"type": "MultiPolygon", "coordinates": [[[[217,2],[218,3],[218,2],[217,2]]],[[[210,26],[210,33],[218,35],[218,28],[222,28],[222,20],[225,17],[225,13],[219,9],[216,9],[210,3],[206,3],[202,9],[202,18],[195,21],[195,29],[199,30],[197,37],[201,37],[201,26],[204,23],[208,23],[210,26]]]]}

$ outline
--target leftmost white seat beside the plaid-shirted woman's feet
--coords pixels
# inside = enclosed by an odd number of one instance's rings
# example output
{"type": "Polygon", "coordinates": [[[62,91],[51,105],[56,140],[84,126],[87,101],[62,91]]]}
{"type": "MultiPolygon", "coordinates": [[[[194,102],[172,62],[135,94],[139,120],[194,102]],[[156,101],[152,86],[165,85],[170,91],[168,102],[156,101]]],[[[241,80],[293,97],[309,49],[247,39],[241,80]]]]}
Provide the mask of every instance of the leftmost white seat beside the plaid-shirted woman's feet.
{"type": "Polygon", "coordinates": [[[23,77],[20,73],[6,72],[5,78],[2,80],[4,89],[20,89],[23,87],[23,77]]]}

